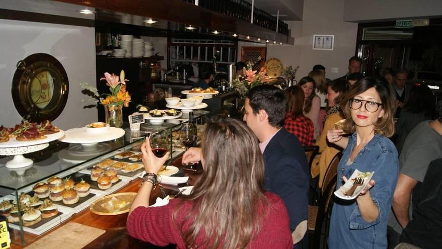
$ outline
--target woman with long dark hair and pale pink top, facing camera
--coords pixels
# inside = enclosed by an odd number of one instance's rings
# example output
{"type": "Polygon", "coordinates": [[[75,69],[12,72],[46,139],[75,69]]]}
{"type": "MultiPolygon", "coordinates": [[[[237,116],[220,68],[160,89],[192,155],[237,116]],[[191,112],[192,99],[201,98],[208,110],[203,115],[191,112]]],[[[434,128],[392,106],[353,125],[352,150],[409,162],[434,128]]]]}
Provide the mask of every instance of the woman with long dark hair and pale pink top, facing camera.
{"type": "Polygon", "coordinates": [[[316,138],[319,135],[320,98],[315,94],[315,81],[306,76],[299,80],[298,86],[304,91],[304,115],[313,122],[313,138],[316,138]]]}

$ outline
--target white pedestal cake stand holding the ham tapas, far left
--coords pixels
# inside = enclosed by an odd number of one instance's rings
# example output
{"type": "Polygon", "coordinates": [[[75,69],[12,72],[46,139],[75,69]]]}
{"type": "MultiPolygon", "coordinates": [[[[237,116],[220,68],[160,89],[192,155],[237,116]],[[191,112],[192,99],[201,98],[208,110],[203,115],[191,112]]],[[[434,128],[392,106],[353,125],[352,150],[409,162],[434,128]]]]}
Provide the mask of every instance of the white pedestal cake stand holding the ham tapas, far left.
{"type": "Polygon", "coordinates": [[[6,168],[19,169],[32,165],[33,160],[26,158],[23,154],[42,150],[49,146],[49,142],[64,136],[64,131],[45,135],[46,138],[30,141],[18,141],[15,138],[0,144],[0,155],[14,155],[14,158],[6,163],[6,168]]]}

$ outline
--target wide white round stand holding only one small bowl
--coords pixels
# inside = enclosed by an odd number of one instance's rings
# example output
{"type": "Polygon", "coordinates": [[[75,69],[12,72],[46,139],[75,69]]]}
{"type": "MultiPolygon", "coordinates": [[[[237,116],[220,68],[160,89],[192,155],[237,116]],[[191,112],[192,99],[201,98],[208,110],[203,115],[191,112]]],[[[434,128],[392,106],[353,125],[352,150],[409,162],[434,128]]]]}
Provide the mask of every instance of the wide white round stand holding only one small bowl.
{"type": "Polygon", "coordinates": [[[120,128],[109,127],[109,131],[102,134],[87,133],[84,127],[69,129],[65,132],[65,136],[59,139],[66,143],[93,144],[114,140],[124,136],[125,131],[120,128]]]}

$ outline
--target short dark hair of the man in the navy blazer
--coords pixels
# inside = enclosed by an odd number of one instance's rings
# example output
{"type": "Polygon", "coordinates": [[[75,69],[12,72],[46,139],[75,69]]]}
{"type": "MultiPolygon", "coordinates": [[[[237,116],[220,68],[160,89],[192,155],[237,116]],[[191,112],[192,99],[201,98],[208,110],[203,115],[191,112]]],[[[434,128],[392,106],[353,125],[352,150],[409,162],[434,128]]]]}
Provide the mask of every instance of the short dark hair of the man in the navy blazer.
{"type": "Polygon", "coordinates": [[[264,110],[271,126],[282,126],[287,111],[287,99],[281,89],[271,85],[260,85],[250,89],[246,97],[254,115],[264,110]]]}

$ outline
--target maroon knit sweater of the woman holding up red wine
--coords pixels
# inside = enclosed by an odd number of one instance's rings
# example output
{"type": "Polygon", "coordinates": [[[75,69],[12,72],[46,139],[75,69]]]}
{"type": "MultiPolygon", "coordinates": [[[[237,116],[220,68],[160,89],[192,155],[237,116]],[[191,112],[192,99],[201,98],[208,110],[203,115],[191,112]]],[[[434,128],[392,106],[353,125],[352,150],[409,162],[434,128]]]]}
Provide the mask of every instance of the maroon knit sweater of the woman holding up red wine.
{"type": "MultiPolygon", "coordinates": [[[[251,241],[248,248],[265,249],[291,249],[293,247],[292,236],[289,228],[289,217],[283,201],[275,194],[266,193],[271,203],[270,208],[259,208],[263,218],[261,229],[251,241]]],[[[168,205],[161,207],[138,207],[129,216],[127,229],[132,237],[150,242],[155,245],[165,246],[177,244],[177,248],[186,248],[180,232],[189,227],[189,222],[183,218],[191,208],[191,202],[185,203],[177,215],[177,223],[172,221],[172,213],[179,200],[171,200],[168,205]]],[[[196,238],[196,243],[204,240],[205,233],[202,231],[196,238]]],[[[228,239],[228,238],[225,238],[228,239]]]]}

